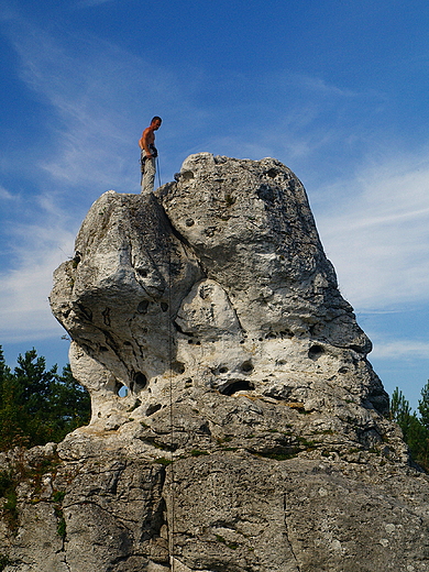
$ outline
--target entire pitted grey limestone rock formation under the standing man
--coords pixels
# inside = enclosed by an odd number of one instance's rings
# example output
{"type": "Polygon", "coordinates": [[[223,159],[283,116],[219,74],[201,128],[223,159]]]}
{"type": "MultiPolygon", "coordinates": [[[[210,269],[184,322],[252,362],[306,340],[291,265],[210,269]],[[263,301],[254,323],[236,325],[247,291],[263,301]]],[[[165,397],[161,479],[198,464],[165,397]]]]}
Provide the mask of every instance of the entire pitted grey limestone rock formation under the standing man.
{"type": "Polygon", "coordinates": [[[278,161],[106,193],[51,305],[92,418],[2,459],[7,572],[429,570],[428,477],[278,161]]]}

